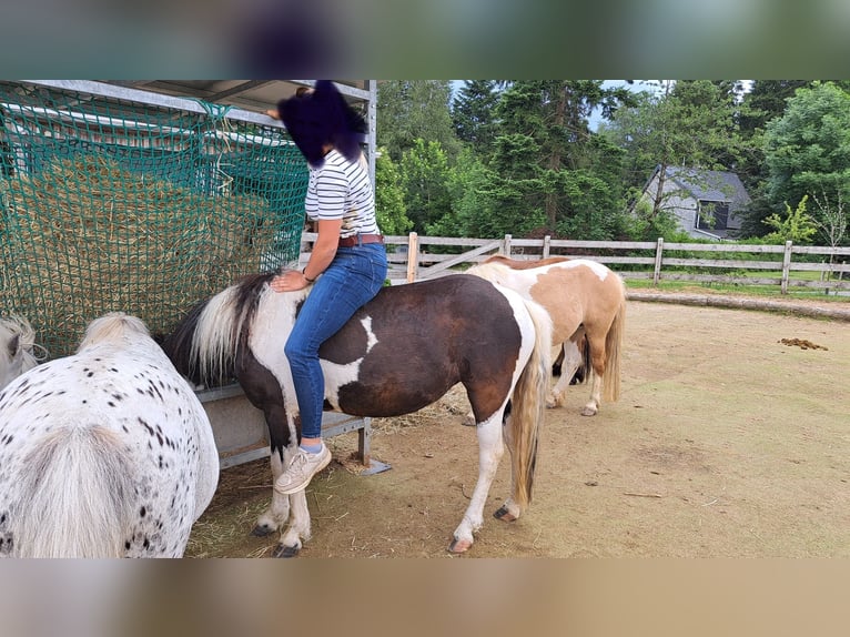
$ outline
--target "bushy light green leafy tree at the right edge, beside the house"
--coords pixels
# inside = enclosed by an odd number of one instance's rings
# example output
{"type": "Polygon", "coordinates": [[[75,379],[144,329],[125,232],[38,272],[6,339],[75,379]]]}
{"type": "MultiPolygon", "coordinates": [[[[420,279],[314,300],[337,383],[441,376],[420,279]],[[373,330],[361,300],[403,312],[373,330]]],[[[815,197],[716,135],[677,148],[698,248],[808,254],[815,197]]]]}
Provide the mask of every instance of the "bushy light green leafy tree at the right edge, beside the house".
{"type": "MultiPolygon", "coordinates": [[[[767,196],[773,209],[824,195],[819,210],[850,195],[850,94],[833,82],[798,89],[785,114],[767,124],[767,196]],[[787,205],[787,204],[786,204],[787,205]]],[[[816,219],[819,224],[827,220],[816,219]]]]}

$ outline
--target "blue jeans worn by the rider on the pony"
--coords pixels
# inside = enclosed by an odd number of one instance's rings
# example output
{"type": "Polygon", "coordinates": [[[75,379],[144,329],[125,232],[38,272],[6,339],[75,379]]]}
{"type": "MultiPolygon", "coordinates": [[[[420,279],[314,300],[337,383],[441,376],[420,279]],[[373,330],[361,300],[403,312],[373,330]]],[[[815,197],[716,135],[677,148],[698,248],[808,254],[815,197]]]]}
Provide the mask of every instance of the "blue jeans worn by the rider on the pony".
{"type": "Polygon", "coordinates": [[[338,247],[313,284],[295,320],[284,353],[290,361],[301,412],[301,436],[322,436],[325,376],[318,347],[373,299],[386,279],[386,249],[380,243],[338,247]]]}

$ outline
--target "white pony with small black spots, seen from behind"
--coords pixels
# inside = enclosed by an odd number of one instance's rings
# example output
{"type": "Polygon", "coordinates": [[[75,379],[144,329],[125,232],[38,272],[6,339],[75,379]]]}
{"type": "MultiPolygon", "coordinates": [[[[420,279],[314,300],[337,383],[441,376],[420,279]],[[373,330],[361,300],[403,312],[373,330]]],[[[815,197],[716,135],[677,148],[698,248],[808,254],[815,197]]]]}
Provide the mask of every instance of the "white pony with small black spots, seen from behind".
{"type": "Polygon", "coordinates": [[[206,412],[134,316],[0,391],[0,555],[180,557],[217,482],[206,412]]]}

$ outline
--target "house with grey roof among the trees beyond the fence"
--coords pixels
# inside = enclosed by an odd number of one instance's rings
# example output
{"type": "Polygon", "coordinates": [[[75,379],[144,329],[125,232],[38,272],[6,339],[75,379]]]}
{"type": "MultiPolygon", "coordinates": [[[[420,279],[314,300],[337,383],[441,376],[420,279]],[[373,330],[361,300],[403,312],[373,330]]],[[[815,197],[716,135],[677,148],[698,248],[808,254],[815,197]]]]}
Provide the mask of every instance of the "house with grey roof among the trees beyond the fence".
{"type": "Polygon", "coordinates": [[[741,180],[733,172],[656,166],[641,199],[650,204],[661,189],[661,208],[695,239],[735,239],[741,228],[739,213],[750,203],[741,180]]]}

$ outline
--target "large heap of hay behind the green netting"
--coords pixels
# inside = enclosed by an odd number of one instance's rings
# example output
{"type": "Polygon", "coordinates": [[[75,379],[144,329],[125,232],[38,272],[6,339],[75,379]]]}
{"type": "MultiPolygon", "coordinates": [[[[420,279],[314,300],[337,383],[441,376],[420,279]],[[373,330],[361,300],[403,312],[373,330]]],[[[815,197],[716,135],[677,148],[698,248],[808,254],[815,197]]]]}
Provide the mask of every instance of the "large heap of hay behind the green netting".
{"type": "Polygon", "coordinates": [[[109,311],[168,333],[198,301],[259,269],[283,220],[264,198],[204,195],[102,155],[54,159],[0,185],[0,302],[51,354],[109,311]]]}

